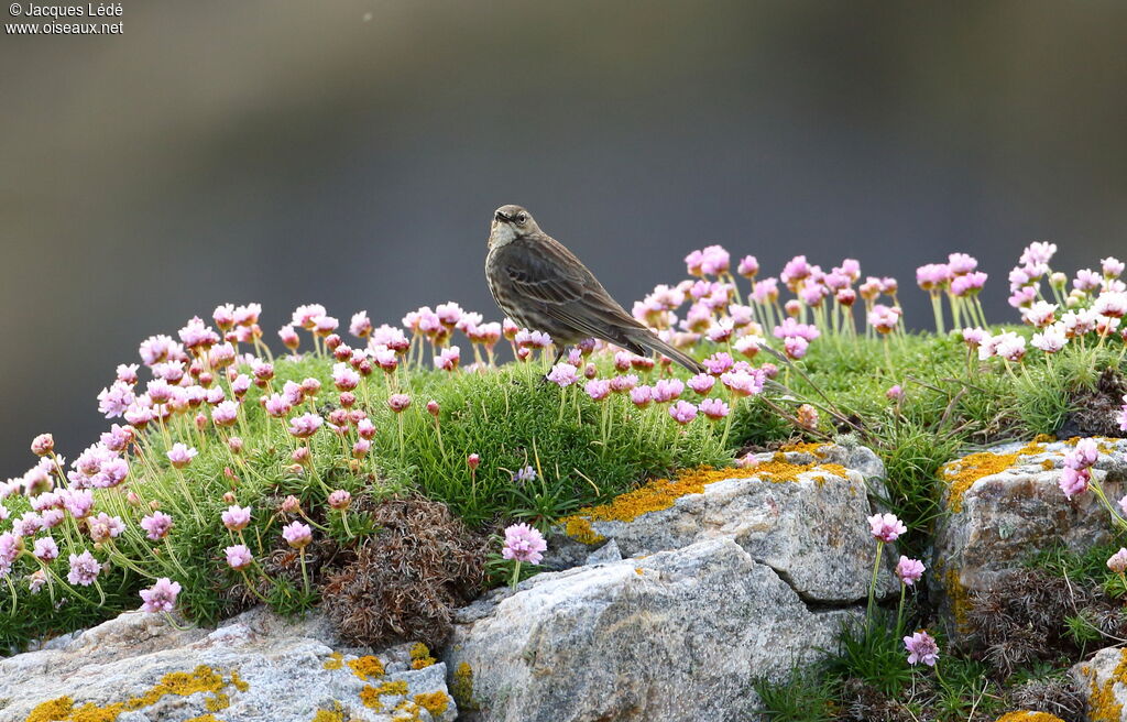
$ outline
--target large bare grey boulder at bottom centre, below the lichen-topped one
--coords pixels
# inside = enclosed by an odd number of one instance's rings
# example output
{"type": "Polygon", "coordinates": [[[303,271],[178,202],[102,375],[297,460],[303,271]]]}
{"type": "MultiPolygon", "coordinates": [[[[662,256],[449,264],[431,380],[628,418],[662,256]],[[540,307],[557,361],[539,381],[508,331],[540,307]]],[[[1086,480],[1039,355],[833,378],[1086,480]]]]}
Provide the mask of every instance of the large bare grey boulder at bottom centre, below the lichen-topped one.
{"type": "Polygon", "coordinates": [[[817,658],[861,617],[808,608],[731,537],[708,538],[479,599],[445,660],[463,712],[490,722],[754,720],[753,678],[817,658]]]}

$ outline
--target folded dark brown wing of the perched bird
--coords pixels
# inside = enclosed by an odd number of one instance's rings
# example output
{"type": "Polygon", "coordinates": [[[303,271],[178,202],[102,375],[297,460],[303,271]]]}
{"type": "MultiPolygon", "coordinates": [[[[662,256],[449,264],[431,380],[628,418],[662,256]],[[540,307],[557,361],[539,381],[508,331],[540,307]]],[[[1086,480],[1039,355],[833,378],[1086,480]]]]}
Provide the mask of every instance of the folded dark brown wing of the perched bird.
{"type": "Polygon", "coordinates": [[[607,338],[614,327],[645,328],[556,240],[541,237],[533,248],[513,251],[500,259],[504,273],[522,297],[550,317],[597,338],[607,338]]]}

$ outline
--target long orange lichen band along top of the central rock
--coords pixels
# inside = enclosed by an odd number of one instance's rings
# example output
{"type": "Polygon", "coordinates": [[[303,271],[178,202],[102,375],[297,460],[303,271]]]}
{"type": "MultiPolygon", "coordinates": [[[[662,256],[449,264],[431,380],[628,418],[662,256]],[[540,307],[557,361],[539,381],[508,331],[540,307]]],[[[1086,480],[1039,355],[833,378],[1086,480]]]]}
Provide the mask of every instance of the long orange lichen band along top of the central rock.
{"type": "MultiPolygon", "coordinates": [[[[775,454],[769,462],[744,469],[713,469],[699,466],[686,469],[676,480],[655,479],[644,487],[616,497],[610,503],[579,509],[575,516],[561,519],[565,531],[574,519],[585,517],[588,522],[633,522],[649,511],[668,509],[681,497],[701,493],[704,487],[726,479],[751,479],[757,476],[772,483],[798,481],[801,474],[825,471],[834,476],[846,478],[849,472],[841,464],[792,464],[783,454],[775,454]]],[[[825,480],[819,481],[819,484],[825,480]]],[[[583,531],[582,524],[574,529],[583,531]]],[[[589,525],[587,526],[589,529],[589,525]]],[[[582,540],[580,540],[582,541],[582,540]]]]}

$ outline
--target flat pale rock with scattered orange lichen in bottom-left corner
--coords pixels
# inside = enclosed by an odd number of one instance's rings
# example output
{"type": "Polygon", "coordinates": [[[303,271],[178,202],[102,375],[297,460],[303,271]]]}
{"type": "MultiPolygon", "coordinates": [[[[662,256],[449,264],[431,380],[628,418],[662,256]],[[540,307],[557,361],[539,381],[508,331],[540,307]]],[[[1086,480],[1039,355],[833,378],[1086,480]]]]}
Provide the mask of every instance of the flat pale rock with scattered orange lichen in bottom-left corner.
{"type": "Polygon", "coordinates": [[[0,660],[0,719],[449,722],[458,710],[445,666],[424,651],[340,647],[321,615],[259,608],[180,631],[132,612],[0,660]]]}

